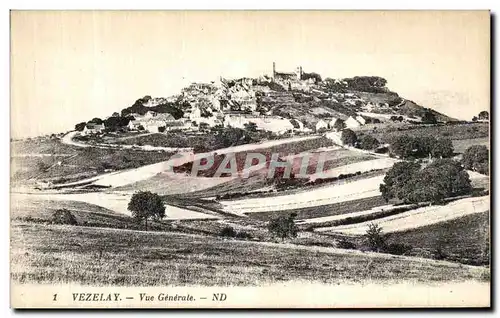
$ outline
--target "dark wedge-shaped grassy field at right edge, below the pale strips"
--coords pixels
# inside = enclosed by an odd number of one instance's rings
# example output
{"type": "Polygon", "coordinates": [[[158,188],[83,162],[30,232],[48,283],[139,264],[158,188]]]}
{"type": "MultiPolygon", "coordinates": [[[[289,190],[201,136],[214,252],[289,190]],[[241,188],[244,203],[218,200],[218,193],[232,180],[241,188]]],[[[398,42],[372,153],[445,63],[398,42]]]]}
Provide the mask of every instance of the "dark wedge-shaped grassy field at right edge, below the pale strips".
{"type": "Polygon", "coordinates": [[[413,247],[411,255],[438,256],[472,265],[489,264],[489,212],[476,213],[405,232],[391,233],[389,242],[413,247]],[[439,255],[436,255],[439,254],[439,255]]]}

